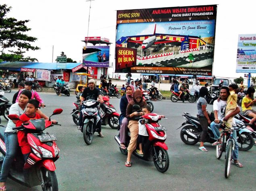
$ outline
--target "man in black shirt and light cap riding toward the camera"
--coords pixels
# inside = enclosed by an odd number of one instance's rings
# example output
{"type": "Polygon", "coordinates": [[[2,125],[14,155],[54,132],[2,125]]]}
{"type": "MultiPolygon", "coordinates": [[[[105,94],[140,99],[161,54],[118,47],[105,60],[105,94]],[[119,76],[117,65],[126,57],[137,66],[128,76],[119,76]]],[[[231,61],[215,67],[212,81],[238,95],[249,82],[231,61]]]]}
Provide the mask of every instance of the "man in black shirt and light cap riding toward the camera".
{"type": "MultiPolygon", "coordinates": [[[[83,90],[83,93],[81,94],[81,102],[83,102],[84,100],[97,100],[99,98],[99,101],[101,104],[104,103],[102,96],[100,95],[100,90],[96,88],[96,83],[94,79],[90,79],[88,82],[88,87],[86,87],[83,90]]],[[[81,108],[82,110],[83,108],[81,108]]],[[[79,126],[77,127],[78,130],[81,130],[83,126],[83,114],[80,111],[80,115],[79,115],[79,126]]],[[[104,135],[101,132],[101,120],[97,123],[97,127],[98,133],[99,133],[99,137],[104,137],[104,135]]]]}

